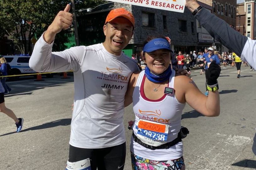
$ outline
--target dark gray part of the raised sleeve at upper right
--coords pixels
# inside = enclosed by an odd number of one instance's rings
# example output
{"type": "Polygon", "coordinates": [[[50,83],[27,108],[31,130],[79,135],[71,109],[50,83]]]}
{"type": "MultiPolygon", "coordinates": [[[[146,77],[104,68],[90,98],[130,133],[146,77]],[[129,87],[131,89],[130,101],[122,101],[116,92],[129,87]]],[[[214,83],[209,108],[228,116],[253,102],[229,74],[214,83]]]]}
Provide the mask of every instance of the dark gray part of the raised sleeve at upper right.
{"type": "Polygon", "coordinates": [[[224,20],[209,13],[205,8],[202,8],[195,15],[195,18],[212,37],[238,56],[241,56],[244,45],[248,40],[246,36],[241,35],[240,32],[231,28],[224,20]]]}

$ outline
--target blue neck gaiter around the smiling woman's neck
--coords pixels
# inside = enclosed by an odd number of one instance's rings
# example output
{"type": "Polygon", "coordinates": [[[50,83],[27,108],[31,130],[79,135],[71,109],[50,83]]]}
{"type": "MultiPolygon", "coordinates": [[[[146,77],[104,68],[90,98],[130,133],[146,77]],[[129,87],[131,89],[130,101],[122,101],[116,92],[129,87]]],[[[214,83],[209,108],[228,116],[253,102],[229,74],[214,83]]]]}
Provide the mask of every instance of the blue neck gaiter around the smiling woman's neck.
{"type": "Polygon", "coordinates": [[[169,79],[171,76],[171,65],[160,75],[154,75],[152,72],[150,72],[149,68],[146,66],[145,69],[145,75],[147,79],[151,82],[164,82],[169,79]]]}

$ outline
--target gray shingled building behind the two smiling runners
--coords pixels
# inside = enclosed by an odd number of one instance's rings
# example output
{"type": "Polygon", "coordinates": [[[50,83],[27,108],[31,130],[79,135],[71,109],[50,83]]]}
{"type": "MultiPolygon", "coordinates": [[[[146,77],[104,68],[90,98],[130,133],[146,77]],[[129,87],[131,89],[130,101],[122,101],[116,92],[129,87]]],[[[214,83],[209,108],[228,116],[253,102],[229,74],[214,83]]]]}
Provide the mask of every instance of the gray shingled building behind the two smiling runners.
{"type": "Polygon", "coordinates": [[[126,55],[139,53],[143,41],[149,35],[164,35],[171,39],[171,48],[177,52],[196,50],[198,38],[196,19],[185,8],[184,13],[134,6],[124,3],[103,4],[90,12],[77,17],[80,45],[101,43],[105,40],[103,25],[109,11],[114,8],[125,8],[135,18],[135,30],[129,45],[124,49],[126,55]]]}

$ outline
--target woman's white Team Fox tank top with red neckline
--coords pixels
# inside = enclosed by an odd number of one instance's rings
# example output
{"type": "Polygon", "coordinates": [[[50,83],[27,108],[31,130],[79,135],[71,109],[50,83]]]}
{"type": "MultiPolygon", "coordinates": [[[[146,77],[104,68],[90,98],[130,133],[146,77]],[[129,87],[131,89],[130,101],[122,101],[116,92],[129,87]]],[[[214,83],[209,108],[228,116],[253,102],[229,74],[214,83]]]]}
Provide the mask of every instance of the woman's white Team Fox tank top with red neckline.
{"type": "MultiPolygon", "coordinates": [[[[164,125],[169,125],[167,142],[173,141],[177,138],[178,133],[181,129],[181,114],[186,103],[180,103],[175,94],[172,96],[164,94],[158,100],[150,100],[144,94],[144,82],[145,82],[145,71],[142,71],[136,82],[133,98],[133,111],[135,113],[135,122],[133,125],[133,132],[137,136],[138,130],[136,129],[136,123],[139,120],[149,120],[164,125]]],[[[168,87],[174,88],[175,71],[169,79],[168,87]]],[[[153,89],[152,89],[152,93],[153,89]]],[[[162,161],[162,160],[173,160],[180,158],[183,155],[183,144],[182,142],[170,147],[169,149],[157,149],[150,150],[140,144],[136,143],[131,137],[131,152],[139,157],[143,157],[149,160],[162,161]]]]}

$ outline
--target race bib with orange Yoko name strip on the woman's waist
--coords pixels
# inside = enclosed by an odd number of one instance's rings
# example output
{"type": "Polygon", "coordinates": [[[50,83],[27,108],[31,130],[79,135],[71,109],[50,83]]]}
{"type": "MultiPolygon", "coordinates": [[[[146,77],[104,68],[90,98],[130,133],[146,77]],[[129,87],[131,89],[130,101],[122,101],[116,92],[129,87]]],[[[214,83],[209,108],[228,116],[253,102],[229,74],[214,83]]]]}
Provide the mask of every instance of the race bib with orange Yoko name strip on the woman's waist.
{"type": "Polygon", "coordinates": [[[139,120],[136,123],[136,136],[145,144],[160,146],[167,143],[169,127],[149,120],[139,120]]]}

